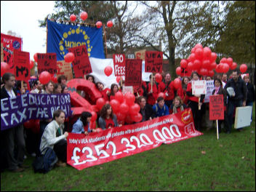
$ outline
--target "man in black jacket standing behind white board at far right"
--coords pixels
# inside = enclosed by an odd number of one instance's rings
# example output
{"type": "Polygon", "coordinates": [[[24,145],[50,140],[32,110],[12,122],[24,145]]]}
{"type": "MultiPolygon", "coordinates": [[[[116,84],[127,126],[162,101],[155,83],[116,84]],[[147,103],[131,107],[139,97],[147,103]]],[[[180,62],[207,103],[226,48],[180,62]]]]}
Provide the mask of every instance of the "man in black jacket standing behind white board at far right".
{"type": "MultiPolygon", "coordinates": [[[[231,132],[231,127],[233,124],[233,112],[237,107],[245,106],[247,102],[247,86],[244,80],[239,76],[239,72],[234,70],[232,73],[232,79],[228,80],[225,84],[225,90],[228,87],[232,87],[235,95],[230,95],[228,92],[228,131],[231,132]]],[[[241,131],[241,129],[239,129],[241,131]]]]}

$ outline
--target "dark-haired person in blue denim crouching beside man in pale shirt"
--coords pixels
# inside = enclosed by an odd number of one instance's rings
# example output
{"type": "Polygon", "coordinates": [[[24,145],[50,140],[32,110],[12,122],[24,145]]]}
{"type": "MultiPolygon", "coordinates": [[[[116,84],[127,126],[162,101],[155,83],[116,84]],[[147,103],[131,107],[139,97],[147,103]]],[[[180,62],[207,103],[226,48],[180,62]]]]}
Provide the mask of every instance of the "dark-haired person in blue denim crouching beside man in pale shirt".
{"type": "Polygon", "coordinates": [[[80,118],[73,124],[72,132],[74,133],[84,133],[88,135],[89,132],[96,132],[95,129],[90,127],[90,121],[92,119],[92,113],[84,111],[81,113],[80,118]]]}

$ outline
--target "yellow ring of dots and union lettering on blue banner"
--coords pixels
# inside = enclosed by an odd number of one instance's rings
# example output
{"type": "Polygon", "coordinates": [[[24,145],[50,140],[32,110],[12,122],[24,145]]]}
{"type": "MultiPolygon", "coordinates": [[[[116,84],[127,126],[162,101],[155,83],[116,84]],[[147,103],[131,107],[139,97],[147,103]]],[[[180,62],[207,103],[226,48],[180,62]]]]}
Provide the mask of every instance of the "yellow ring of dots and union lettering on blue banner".
{"type": "Polygon", "coordinates": [[[70,47],[78,47],[81,45],[87,45],[87,52],[88,52],[88,56],[91,55],[91,51],[92,51],[92,46],[90,46],[90,40],[89,40],[89,36],[87,36],[87,33],[85,31],[83,31],[80,28],[72,29],[69,28],[70,31],[63,33],[62,39],[59,42],[59,49],[60,49],[60,55],[65,55],[65,49],[68,50],[68,48],[70,47]],[[72,36],[72,35],[83,35],[84,36],[84,41],[68,41],[68,36],[72,36]]]}

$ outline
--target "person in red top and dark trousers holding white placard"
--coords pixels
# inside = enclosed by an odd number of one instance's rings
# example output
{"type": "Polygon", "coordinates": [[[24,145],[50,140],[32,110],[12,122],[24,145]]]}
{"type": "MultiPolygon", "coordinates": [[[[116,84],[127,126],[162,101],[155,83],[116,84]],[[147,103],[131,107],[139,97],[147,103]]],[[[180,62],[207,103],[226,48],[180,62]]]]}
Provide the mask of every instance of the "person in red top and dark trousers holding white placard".
{"type": "Polygon", "coordinates": [[[191,73],[191,81],[188,83],[187,95],[188,95],[188,106],[191,108],[193,113],[193,121],[195,123],[196,130],[201,130],[202,111],[201,105],[203,105],[205,95],[193,95],[192,94],[192,82],[199,81],[199,74],[196,71],[191,73]]]}

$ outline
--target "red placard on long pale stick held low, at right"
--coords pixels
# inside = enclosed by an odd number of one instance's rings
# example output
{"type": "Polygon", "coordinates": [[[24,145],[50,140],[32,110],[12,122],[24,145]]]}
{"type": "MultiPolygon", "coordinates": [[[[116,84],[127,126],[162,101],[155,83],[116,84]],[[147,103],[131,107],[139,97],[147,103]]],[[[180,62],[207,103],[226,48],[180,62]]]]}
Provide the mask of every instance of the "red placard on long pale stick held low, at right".
{"type": "Polygon", "coordinates": [[[223,95],[209,96],[209,120],[224,119],[223,95]]]}

